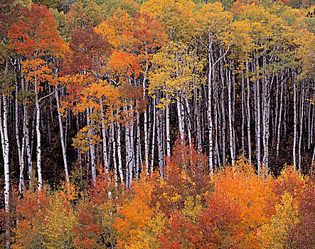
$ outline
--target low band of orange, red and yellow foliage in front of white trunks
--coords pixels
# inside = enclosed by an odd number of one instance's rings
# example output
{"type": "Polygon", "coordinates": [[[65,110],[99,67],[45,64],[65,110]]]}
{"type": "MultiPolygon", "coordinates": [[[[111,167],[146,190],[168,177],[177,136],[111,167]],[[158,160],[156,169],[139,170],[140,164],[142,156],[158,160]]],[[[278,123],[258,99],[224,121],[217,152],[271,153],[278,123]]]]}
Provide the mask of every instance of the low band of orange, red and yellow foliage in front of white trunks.
{"type": "Polygon", "coordinates": [[[287,166],[257,176],[239,159],[212,178],[207,158],[178,139],[165,176],[130,189],[98,168],[86,192],[28,191],[18,202],[13,248],[311,248],[314,178],[287,166]]]}

